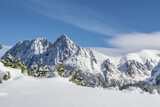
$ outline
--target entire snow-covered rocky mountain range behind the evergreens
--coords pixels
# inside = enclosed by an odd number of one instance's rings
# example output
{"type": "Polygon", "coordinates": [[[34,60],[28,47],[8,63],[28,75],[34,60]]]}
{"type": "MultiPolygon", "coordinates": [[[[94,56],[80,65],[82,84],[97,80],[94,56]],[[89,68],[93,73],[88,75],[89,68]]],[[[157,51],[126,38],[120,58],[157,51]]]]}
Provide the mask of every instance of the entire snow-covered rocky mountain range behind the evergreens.
{"type": "Polygon", "coordinates": [[[2,59],[5,59],[8,53],[16,58],[20,56],[28,66],[41,58],[44,61],[43,65],[63,62],[66,72],[72,72],[77,68],[80,70],[79,75],[90,86],[104,88],[122,87],[139,81],[148,82],[149,78],[154,76],[152,70],[158,72],[155,67],[160,60],[159,50],[142,50],[123,57],[106,56],[77,46],[66,35],[60,36],[54,43],[43,38],[18,42],[2,59]]]}

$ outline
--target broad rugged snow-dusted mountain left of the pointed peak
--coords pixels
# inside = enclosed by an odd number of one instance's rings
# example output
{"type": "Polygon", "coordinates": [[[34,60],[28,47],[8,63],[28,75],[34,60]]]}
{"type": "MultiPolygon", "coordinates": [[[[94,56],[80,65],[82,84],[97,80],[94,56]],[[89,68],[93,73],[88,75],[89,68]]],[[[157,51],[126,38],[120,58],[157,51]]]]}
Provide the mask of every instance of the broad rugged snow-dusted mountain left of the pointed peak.
{"type": "Polygon", "coordinates": [[[20,56],[22,61],[29,65],[32,64],[35,56],[40,56],[43,54],[50,45],[51,43],[44,38],[21,41],[7,51],[2,59],[5,59],[8,53],[10,53],[15,58],[20,56]]]}

